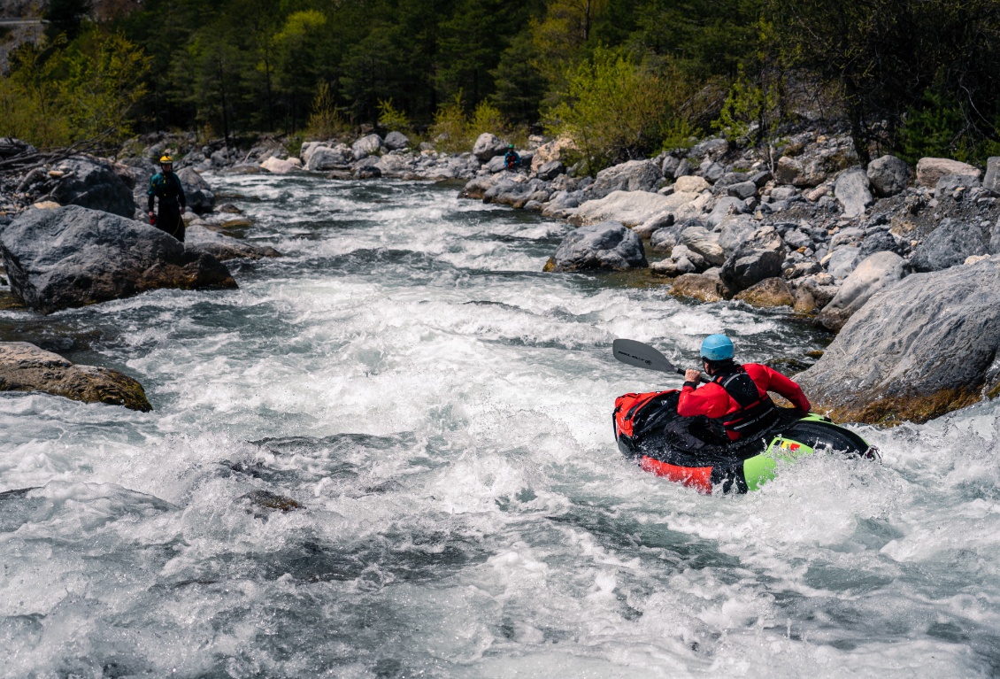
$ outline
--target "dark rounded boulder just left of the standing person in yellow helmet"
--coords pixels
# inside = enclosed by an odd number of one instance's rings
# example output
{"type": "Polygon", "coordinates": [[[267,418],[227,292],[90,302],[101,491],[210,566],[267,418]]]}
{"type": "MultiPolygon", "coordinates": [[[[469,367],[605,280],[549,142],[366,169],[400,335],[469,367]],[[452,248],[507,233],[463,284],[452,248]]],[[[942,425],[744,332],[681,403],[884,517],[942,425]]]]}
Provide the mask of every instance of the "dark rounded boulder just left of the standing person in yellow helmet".
{"type": "Polygon", "coordinates": [[[74,156],[59,163],[62,176],[49,192],[60,205],[79,205],[121,217],[135,214],[132,190],[110,163],[89,156],[74,156]]]}

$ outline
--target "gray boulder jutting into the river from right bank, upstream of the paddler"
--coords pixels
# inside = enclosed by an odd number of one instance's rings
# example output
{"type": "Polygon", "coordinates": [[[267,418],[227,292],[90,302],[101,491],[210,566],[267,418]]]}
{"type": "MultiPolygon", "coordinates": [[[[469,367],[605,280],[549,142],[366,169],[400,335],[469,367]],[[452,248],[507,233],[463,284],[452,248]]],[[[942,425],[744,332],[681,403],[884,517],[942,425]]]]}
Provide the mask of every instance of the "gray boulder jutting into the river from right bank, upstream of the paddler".
{"type": "Polygon", "coordinates": [[[604,222],[570,231],[545,265],[545,271],[623,270],[646,266],[639,236],[620,222],[604,222]]]}

